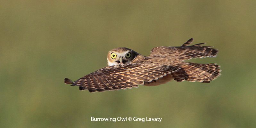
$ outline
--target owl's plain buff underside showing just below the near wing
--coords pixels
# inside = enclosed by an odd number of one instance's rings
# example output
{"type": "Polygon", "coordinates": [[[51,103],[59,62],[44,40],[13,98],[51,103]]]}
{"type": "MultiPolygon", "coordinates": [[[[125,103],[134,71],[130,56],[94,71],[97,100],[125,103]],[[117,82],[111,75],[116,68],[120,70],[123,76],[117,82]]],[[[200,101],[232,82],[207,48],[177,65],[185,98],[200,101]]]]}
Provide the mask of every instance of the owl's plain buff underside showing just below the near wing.
{"type": "Polygon", "coordinates": [[[165,84],[169,82],[170,80],[174,79],[171,74],[167,74],[166,76],[163,76],[162,78],[158,78],[157,80],[153,80],[152,82],[145,82],[145,86],[157,86],[160,84],[165,84]]]}

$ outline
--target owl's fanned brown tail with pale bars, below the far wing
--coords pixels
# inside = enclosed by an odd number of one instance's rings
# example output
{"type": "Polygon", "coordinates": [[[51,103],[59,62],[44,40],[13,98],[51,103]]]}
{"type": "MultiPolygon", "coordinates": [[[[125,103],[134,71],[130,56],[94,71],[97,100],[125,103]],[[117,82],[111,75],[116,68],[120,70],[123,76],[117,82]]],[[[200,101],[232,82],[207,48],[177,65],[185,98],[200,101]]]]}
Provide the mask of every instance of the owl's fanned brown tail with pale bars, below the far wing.
{"type": "Polygon", "coordinates": [[[176,81],[190,81],[210,83],[212,80],[220,76],[221,70],[217,64],[197,64],[182,62],[181,70],[173,73],[174,80],[176,81]]]}

